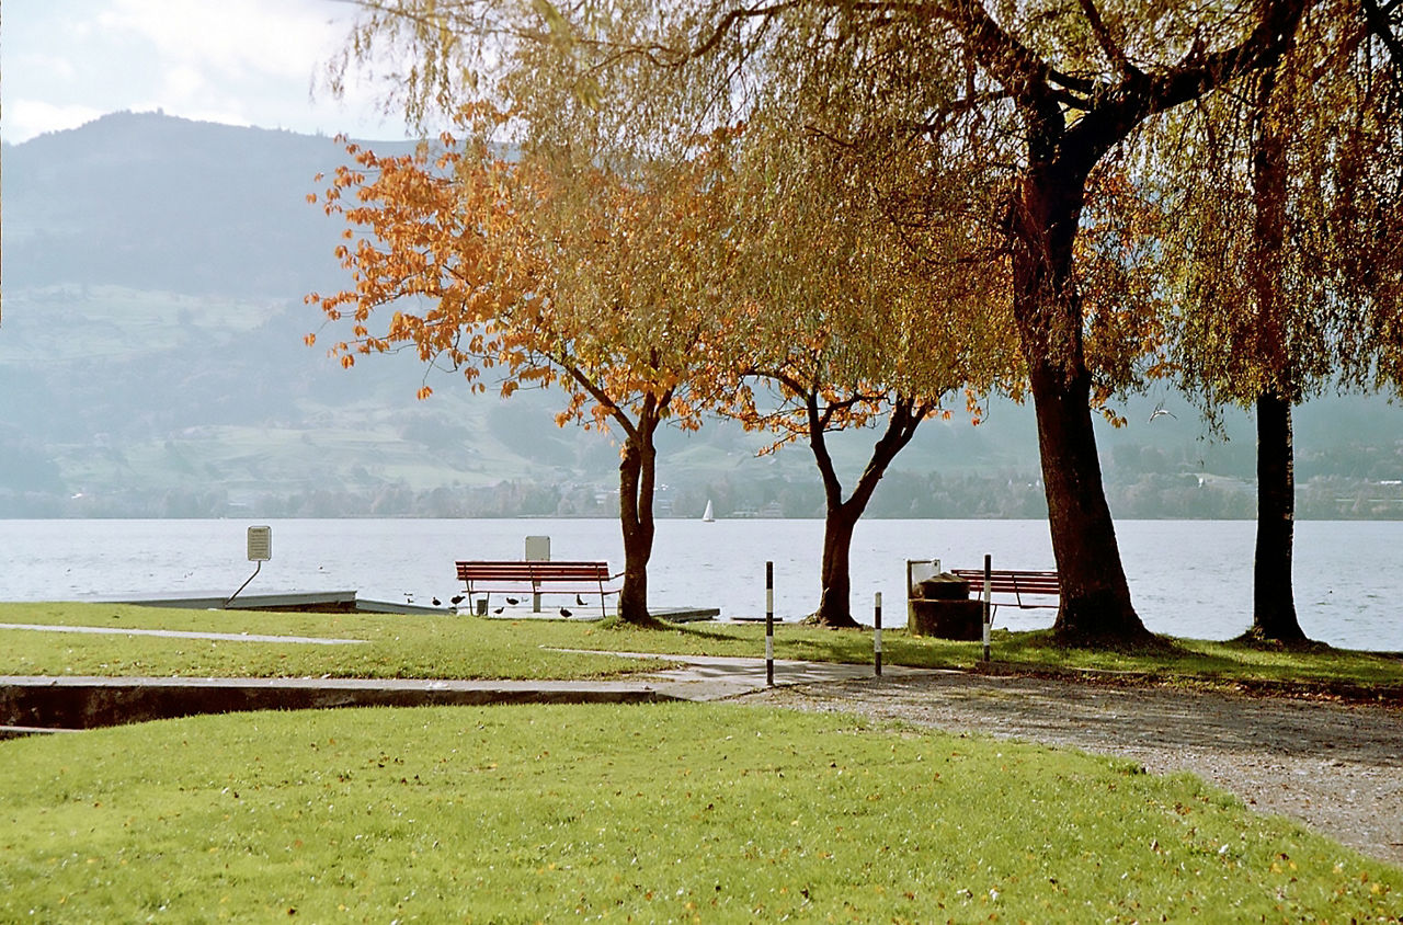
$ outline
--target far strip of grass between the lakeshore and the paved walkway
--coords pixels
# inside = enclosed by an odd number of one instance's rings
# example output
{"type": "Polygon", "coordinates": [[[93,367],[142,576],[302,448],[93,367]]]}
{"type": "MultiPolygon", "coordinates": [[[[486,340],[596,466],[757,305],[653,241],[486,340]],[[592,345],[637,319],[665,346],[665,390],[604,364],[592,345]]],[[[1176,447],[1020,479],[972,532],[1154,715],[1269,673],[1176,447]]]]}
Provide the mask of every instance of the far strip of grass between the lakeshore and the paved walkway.
{"type": "MultiPolygon", "coordinates": [[[[553,648],[658,656],[762,656],[763,627],[686,623],[634,630],[567,620],[470,616],[390,616],[177,611],[130,605],[0,604],[0,623],[59,623],[337,636],[363,646],[293,646],[0,632],[0,674],[368,677],[368,678],[588,678],[651,667],[553,648]]],[[[1164,684],[1338,693],[1403,700],[1403,658],[1338,648],[1267,650],[1235,641],[1173,640],[1170,651],[1114,653],[1054,646],[1047,632],[993,633],[993,665],[1006,672],[1092,674],[1164,684]]],[[[777,658],[871,661],[871,633],[786,623],[776,627],[777,658]]],[[[978,643],[882,634],[887,664],[984,670],[978,643]]],[[[655,665],[658,663],[652,663],[655,665]]]]}

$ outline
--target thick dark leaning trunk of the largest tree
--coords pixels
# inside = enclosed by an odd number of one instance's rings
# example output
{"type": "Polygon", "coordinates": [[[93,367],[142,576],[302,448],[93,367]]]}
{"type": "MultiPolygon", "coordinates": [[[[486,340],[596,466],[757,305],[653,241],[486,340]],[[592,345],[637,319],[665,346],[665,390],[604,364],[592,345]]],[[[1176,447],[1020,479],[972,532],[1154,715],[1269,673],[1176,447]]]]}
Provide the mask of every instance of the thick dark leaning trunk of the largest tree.
{"type": "Polygon", "coordinates": [[[1079,171],[1049,163],[1027,173],[1017,205],[1013,306],[1037,411],[1052,554],[1062,585],[1054,633],[1063,644],[1135,646],[1153,636],[1131,605],[1106,501],[1092,430],[1082,307],[1072,284],[1085,182],[1079,171]]]}

